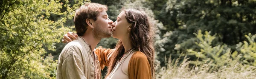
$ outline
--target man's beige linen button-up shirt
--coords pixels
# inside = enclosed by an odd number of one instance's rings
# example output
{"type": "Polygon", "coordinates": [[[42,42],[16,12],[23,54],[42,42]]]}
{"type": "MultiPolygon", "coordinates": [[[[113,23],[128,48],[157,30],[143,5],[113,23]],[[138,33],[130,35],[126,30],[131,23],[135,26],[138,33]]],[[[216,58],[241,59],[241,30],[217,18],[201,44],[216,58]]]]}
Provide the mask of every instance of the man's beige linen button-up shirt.
{"type": "Polygon", "coordinates": [[[79,37],[63,48],[58,58],[57,79],[100,78],[98,58],[83,39],[79,37]]]}

